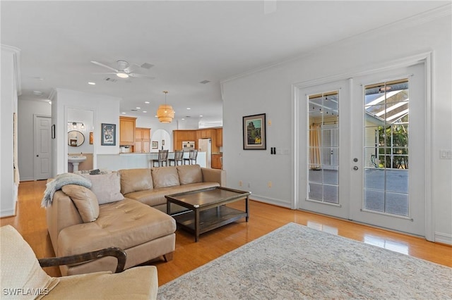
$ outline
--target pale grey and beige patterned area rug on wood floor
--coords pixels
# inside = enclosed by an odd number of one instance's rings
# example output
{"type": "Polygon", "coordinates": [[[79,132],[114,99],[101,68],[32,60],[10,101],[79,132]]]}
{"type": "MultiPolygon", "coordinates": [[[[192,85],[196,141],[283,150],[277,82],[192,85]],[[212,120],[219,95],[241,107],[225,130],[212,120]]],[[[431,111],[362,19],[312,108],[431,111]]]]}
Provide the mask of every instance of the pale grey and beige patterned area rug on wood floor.
{"type": "Polygon", "coordinates": [[[290,223],[162,285],[157,299],[452,299],[452,268],[290,223]]]}

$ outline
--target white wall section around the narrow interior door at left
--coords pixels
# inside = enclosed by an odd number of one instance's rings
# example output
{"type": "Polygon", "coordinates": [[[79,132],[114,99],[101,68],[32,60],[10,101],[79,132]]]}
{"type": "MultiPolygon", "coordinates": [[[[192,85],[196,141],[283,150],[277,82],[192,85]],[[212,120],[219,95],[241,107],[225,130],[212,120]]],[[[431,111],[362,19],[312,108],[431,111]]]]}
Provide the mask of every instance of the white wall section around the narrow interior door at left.
{"type": "Polygon", "coordinates": [[[35,152],[33,145],[33,115],[52,115],[52,106],[43,101],[18,101],[18,155],[20,181],[34,179],[35,152]]]}

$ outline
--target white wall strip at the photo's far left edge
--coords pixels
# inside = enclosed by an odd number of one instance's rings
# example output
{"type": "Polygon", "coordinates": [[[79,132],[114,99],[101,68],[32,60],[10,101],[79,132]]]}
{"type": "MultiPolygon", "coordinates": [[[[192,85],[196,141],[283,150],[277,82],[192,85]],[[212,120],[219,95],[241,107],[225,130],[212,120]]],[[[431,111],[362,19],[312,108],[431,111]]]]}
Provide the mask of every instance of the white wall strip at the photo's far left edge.
{"type": "Polygon", "coordinates": [[[20,50],[1,45],[0,99],[0,217],[16,213],[18,185],[14,184],[13,113],[17,113],[20,84],[16,80],[20,50]]]}

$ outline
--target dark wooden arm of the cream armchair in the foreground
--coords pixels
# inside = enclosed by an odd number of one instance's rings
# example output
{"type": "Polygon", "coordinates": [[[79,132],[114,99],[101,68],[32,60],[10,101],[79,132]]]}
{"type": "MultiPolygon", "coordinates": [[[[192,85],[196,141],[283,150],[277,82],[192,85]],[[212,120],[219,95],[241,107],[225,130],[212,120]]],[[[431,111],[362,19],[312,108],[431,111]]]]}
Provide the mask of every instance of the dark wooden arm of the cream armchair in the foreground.
{"type": "Polygon", "coordinates": [[[118,265],[114,273],[121,273],[122,271],[124,271],[127,254],[124,250],[118,247],[109,247],[97,251],[71,256],[40,258],[38,259],[38,261],[40,262],[41,267],[44,268],[54,267],[57,265],[70,265],[72,263],[83,263],[85,261],[92,261],[93,259],[102,258],[104,256],[114,256],[118,259],[118,265]]]}

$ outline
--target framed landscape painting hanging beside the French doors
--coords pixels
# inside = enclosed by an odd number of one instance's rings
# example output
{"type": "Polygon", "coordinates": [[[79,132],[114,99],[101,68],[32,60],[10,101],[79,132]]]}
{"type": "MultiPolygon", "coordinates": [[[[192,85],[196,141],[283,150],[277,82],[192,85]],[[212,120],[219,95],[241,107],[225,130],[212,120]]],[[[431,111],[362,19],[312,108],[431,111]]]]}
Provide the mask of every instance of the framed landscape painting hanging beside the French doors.
{"type": "Polygon", "coordinates": [[[243,117],[243,149],[266,149],[266,114],[243,117]]]}

